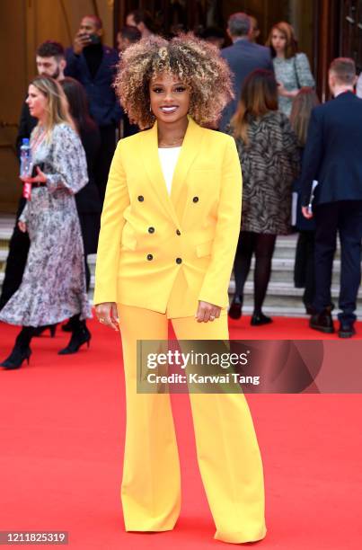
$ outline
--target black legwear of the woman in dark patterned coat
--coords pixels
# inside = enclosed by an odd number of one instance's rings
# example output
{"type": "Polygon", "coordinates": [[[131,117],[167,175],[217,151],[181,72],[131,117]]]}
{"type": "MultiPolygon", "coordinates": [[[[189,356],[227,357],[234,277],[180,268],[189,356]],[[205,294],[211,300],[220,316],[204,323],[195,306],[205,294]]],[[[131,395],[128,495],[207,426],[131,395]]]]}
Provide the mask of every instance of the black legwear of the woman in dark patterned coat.
{"type": "Polygon", "coordinates": [[[255,253],[254,313],[260,314],[261,306],[270,279],[271,260],[277,235],[241,231],[234,260],[235,294],[243,296],[243,287],[248,277],[255,253]]]}

